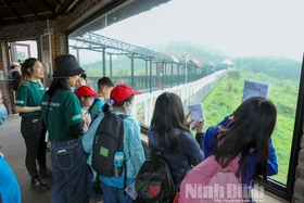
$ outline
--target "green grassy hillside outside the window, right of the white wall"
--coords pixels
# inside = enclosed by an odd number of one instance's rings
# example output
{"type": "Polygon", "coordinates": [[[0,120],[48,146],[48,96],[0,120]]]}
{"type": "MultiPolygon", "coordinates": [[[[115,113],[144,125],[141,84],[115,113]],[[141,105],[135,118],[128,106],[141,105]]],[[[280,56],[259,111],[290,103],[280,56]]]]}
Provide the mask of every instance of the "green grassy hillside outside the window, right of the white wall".
{"type": "Polygon", "coordinates": [[[244,79],[270,84],[268,99],[276,104],[278,111],[277,124],[271,138],[277,153],[279,174],[273,178],[286,183],[299,84],[264,74],[242,73],[237,80],[227,75],[203,101],[206,127],[217,124],[225,115],[240,105],[244,79]]]}

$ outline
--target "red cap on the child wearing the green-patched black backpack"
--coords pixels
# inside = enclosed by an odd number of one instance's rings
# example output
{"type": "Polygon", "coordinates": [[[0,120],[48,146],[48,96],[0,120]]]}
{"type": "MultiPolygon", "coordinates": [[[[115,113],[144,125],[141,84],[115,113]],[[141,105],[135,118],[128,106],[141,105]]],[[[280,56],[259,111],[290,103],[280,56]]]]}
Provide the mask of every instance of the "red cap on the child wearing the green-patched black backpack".
{"type": "Polygon", "coordinates": [[[141,91],[135,91],[131,87],[121,84],[111,91],[111,98],[114,98],[117,103],[124,101],[131,94],[141,94],[141,91]]]}

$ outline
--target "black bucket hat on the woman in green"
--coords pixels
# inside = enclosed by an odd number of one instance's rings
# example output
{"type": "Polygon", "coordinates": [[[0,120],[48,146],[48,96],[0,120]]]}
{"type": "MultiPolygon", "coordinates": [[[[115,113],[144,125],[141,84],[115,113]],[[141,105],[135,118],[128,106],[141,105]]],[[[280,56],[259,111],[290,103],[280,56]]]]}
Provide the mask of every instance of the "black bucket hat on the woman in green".
{"type": "Polygon", "coordinates": [[[72,54],[63,54],[55,58],[55,71],[53,74],[53,78],[65,78],[69,76],[80,75],[84,73],[83,69],[76,60],[76,58],[72,54]]]}

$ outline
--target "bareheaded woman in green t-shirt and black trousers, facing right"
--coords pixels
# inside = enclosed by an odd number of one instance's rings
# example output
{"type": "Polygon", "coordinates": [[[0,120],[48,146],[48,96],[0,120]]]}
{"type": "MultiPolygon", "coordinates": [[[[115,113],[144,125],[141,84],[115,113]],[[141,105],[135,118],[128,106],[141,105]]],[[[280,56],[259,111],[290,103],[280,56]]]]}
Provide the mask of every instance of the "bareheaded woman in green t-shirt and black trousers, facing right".
{"type": "Polygon", "coordinates": [[[21,71],[22,84],[16,93],[15,111],[22,116],[21,134],[26,145],[25,165],[31,176],[30,187],[36,190],[47,191],[50,186],[39,179],[36,168],[37,160],[40,167],[40,177],[52,177],[52,172],[46,166],[46,127],[40,116],[40,103],[45,94],[41,78],[43,78],[45,69],[39,60],[29,58],[25,60],[21,71]]]}

